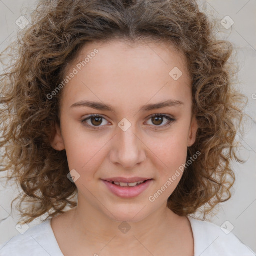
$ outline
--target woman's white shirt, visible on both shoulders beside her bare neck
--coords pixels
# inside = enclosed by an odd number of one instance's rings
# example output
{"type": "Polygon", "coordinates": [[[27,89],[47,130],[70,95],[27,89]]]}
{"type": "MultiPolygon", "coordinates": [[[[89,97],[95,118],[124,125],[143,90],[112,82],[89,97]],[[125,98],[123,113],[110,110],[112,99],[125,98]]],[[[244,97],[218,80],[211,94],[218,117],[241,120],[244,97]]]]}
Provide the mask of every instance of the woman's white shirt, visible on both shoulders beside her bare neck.
{"type": "MultiPolygon", "coordinates": [[[[196,220],[190,216],[188,218],[194,238],[194,256],[255,256],[255,253],[233,233],[226,234],[213,223],[196,220]]],[[[0,256],[64,255],[48,219],[0,245],[0,256]]]]}

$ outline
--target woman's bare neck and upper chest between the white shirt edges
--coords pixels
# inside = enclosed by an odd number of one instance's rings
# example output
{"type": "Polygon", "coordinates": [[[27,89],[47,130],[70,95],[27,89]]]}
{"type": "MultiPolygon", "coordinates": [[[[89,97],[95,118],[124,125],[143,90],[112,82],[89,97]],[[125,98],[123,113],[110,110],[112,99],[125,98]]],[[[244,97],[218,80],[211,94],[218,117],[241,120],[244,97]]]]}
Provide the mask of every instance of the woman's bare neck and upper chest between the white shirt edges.
{"type": "Polygon", "coordinates": [[[186,217],[166,205],[143,218],[142,211],[143,206],[133,217],[136,221],[117,221],[92,204],[80,202],[78,196],[77,207],[53,218],[53,230],[64,255],[98,255],[95,251],[102,250],[104,255],[193,255],[193,234],[186,217]]]}

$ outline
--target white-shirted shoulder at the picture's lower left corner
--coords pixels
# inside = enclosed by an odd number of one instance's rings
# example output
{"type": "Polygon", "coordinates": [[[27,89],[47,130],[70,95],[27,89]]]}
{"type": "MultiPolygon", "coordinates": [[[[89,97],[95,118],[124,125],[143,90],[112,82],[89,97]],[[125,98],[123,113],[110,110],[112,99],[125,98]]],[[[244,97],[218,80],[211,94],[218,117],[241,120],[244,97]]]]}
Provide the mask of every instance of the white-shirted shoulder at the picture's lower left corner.
{"type": "Polygon", "coordinates": [[[0,256],[12,255],[63,256],[51,229],[50,220],[43,221],[0,245],[0,256]]]}

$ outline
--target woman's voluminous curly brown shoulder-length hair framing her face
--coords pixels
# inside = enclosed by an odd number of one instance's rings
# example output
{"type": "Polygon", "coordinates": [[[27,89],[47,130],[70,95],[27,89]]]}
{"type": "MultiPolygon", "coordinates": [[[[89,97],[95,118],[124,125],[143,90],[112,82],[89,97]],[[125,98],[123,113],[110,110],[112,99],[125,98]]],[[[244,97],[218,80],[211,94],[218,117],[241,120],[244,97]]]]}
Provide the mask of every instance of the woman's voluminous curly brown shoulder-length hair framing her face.
{"type": "Polygon", "coordinates": [[[40,0],[31,17],[3,51],[9,50],[12,64],[0,76],[1,171],[8,171],[8,179],[15,178],[23,190],[14,199],[22,195],[18,210],[23,221],[44,213],[53,217],[77,205],[72,200],[77,187],[67,178],[66,152],[50,144],[59,124],[61,91],[51,99],[47,94],[63,80],[79,50],[93,41],[165,42],[184,54],[198,122],[187,159],[201,154],[184,171],[167,207],[186,216],[204,206],[205,217],[231,197],[235,175],[230,164],[242,162],[235,135],[245,96],[232,81],[233,45],[217,39],[216,24],[196,0],[40,0]]]}

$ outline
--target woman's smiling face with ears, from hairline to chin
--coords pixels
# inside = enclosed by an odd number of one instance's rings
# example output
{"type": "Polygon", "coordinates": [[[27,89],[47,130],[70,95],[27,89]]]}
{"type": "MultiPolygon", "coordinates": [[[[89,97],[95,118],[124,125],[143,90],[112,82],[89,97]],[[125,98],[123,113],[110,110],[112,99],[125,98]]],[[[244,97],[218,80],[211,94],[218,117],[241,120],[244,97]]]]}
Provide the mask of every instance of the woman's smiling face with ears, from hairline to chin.
{"type": "Polygon", "coordinates": [[[131,222],[166,208],[197,130],[181,53],[159,43],[93,42],[66,75],[52,146],[66,150],[78,207],[131,222]]]}

